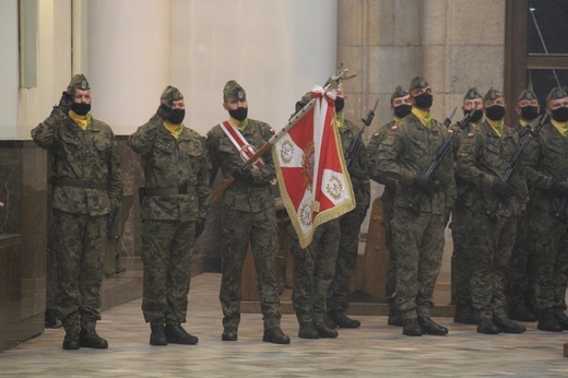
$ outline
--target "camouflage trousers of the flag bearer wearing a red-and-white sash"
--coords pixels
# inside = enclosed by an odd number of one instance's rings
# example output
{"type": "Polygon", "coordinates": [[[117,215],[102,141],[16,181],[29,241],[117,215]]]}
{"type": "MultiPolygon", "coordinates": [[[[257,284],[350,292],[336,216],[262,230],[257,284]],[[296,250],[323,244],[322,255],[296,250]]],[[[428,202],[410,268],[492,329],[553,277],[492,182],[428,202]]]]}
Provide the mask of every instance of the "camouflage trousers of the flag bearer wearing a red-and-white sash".
{"type": "Polygon", "coordinates": [[[257,270],[264,329],[280,326],[280,296],[274,272],[279,235],[274,208],[256,213],[223,208],[221,222],[223,274],[218,297],[224,315],[223,326],[238,328],[240,322],[242,264],[249,243],[257,270]]]}

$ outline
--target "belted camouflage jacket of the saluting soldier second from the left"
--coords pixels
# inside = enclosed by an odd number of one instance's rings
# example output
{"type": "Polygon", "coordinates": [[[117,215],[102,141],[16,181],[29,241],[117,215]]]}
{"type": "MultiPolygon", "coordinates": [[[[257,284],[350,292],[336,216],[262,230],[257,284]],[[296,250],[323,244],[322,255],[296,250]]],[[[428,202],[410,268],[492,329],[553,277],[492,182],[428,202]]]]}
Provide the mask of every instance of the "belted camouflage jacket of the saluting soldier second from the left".
{"type": "Polygon", "coordinates": [[[154,115],[128,139],[128,145],[142,156],[145,189],[142,218],[197,221],[206,217],[211,189],[203,138],[184,128],[178,139],[154,115]],[[181,193],[150,196],[151,190],[184,188],[181,193]]]}

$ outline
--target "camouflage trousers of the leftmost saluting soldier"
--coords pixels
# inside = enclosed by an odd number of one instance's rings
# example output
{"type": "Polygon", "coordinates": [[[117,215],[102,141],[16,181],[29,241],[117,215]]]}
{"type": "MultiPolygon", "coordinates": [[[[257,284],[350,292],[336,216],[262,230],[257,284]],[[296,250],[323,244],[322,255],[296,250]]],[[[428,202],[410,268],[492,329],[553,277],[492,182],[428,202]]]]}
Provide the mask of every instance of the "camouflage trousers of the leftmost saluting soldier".
{"type": "Polygon", "coordinates": [[[95,328],[100,320],[100,285],[107,215],[54,210],[58,316],[66,330],[95,328]]]}

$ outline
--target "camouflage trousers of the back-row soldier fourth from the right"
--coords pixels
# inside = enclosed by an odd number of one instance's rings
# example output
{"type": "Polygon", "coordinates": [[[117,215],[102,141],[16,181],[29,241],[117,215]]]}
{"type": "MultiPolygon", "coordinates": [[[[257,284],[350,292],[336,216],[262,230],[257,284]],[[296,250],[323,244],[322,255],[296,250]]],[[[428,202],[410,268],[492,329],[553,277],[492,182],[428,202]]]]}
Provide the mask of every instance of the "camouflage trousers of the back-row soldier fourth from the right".
{"type": "Polygon", "coordinates": [[[452,302],[458,306],[472,305],[471,279],[474,259],[474,239],[471,232],[472,211],[457,204],[451,214],[453,253],[451,263],[452,302]]]}

